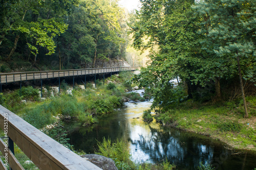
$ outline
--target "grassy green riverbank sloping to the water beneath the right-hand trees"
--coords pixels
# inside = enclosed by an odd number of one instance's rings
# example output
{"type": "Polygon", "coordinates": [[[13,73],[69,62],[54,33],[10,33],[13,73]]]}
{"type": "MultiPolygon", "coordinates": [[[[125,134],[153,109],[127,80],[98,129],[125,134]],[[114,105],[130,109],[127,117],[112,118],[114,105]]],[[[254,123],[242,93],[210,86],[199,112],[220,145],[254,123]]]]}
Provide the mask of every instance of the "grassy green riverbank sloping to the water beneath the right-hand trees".
{"type": "Polygon", "coordinates": [[[243,117],[241,102],[202,104],[193,101],[155,117],[163,125],[221,140],[230,149],[256,151],[256,98],[249,97],[247,101],[249,118],[243,117]]]}

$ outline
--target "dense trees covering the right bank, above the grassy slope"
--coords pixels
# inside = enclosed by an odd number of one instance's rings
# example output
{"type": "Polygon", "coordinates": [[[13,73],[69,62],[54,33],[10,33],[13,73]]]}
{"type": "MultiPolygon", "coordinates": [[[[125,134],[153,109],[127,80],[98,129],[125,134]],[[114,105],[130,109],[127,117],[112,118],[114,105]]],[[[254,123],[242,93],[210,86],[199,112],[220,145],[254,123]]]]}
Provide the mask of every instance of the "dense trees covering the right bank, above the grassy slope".
{"type": "Polygon", "coordinates": [[[153,89],[153,107],[168,110],[185,99],[238,98],[246,106],[245,96],[256,91],[254,0],[141,3],[131,32],[135,47],[151,49],[152,62],[137,82],[153,89]],[[185,87],[172,88],[172,79],[181,80],[185,87]]]}

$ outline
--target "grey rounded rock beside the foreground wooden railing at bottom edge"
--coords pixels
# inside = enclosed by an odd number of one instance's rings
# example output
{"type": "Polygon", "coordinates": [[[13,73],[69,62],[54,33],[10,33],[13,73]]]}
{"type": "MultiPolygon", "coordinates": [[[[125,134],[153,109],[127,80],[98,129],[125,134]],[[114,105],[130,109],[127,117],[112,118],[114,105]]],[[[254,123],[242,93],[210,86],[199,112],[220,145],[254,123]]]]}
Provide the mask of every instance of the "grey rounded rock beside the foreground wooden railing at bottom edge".
{"type": "Polygon", "coordinates": [[[92,162],[103,170],[118,170],[115,162],[111,158],[106,158],[102,155],[97,154],[81,155],[81,157],[92,162]]]}

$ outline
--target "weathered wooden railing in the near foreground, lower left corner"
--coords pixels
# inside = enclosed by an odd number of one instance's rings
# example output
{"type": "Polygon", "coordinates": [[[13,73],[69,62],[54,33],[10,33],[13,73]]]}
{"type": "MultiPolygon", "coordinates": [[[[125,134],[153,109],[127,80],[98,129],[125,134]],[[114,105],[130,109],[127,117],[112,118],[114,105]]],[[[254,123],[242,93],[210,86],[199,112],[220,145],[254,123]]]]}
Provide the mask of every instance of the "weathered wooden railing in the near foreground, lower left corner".
{"type": "MultiPolygon", "coordinates": [[[[3,156],[8,156],[10,169],[24,169],[11,151],[11,141],[16,143],[39,169],[101,169],[63,147],[63,145],[1,105],[0,128],[7,132],[8,136],[5,136],[5,138],[9,137],[11,139],[8,147],[2,139],[0,142],[0,151],[3,156]]],[[[0,169],[7,169],[5,163],[0,159],[0,169]]]]}

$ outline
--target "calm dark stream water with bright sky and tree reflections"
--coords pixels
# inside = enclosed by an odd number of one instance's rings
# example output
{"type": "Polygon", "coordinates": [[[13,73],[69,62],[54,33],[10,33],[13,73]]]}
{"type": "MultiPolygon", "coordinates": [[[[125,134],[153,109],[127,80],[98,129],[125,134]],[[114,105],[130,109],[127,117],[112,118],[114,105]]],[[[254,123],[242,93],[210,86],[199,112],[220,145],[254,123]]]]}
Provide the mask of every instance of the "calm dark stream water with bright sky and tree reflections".
{"type": "MultiPolygon", "coordinates": [[[[141,92],[141,91],[138,91],[141,92]]],[[[123,138],[128,142],[132,158],[137,162],[158,163],[166,159],[178,169],[197,169],[200,162],[208,161],[216,169],[256,168],[256,153],[233,151],[210,137],[159,126],[155,121],[145,124],[143,111],[152,101],[125,103],[126,108],[99,117],[99,123],[91,128],[79,127],[69,135],[76,150],[94,153],[97,141],[102,138],[123,138]]],[[[70,123],[71,124],[75,123],[70,123]]]]}

